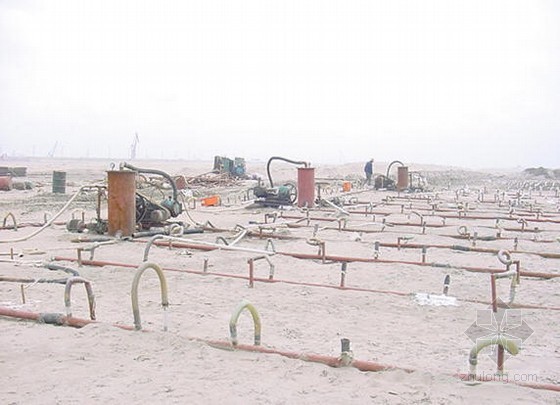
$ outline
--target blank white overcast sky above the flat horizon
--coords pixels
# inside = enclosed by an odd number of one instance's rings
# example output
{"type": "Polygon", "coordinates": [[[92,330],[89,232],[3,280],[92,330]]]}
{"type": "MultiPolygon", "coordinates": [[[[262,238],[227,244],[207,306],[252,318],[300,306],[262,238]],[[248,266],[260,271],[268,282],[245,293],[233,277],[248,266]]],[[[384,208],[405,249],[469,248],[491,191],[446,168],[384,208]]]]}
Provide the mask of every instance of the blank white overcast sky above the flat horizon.
{"type": "Polygon", "coordinates": [[[560,167],[556,0],[0,0],[0,153],[560,167]]]}

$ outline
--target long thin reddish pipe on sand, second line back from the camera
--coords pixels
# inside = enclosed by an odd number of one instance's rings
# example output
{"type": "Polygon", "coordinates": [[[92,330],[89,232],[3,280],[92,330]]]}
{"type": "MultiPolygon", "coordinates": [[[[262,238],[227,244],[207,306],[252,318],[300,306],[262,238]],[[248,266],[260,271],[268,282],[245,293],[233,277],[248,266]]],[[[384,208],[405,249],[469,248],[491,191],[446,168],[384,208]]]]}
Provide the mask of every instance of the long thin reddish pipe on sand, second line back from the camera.
{"type": "MultiPolygon", "coordinates": [[[[58,261],[77,261],[78,259],[69,258],[69,257],[54,257],[53,260],[58,261]]],[[[99,260],[83,260],[82,263],[86,266],[95,266],[95,267],[104,267],[104,266],[113,266],[113,267],[123,267],[123,268],[136,268],[137,266],[134,264],[129,263],[119,263],[119,262],[108,262],[108,261],[99,261],[99,260]]],[[[180,273],[189,273],[189,274],[198,274],[201,276],[212,275],[216,277],[227,277],[227,278],[237,278],[241,280],[249,280],[248,276],[242,276],[238,274],[228,274],[228,273],[218,273],[218,272],[209,272],[209,271],[199,271],[199,270],[189,270],[189,269],[176,269],[176,268],[169,268],[163,267],[162,270],[164,271],[174,271],[180,273]]],[[[306,287],[319,287],[319,288],[331,288],[336,290],[349,290],[349,291],[360,291],[360,292],[368,292],[374,294],[389,294],[389,295],[396,295],[401,297],[409,297],[412,296],[413,293],[407,293],[402,291],[392,291],[392,290],[376,290],[370,288],[361,288],[361,287],[340,287],[339,285],[330,285],[330,284],[320,284],[320,283],[309,283],[303,281],[292,281],[292,280],[282,280],[282,279],[274,279],[271,280],[270,278],[260,278],[254,277],[253,281],[258,281],[262,283],[283,283],[283,284],[290,284],[290,285],[302,285],[306,287]]],[[[483,301],[483,300],[476,300],[476,299],[467,299],[467,298],[457,298],[458,301],[462,302],[470,302],[475,304],[484,304],[490,305],[491,302],[483,301]]],[[[525,309],[544,309],[550,311],[560,311],[560,307],[551,307],[551,306],[541,306],[541,305],[532,305],[532,304],[517,304],[511,303],[506,305],[498,304],[500,307],[504,308],[525,308],[525,309]]]]}

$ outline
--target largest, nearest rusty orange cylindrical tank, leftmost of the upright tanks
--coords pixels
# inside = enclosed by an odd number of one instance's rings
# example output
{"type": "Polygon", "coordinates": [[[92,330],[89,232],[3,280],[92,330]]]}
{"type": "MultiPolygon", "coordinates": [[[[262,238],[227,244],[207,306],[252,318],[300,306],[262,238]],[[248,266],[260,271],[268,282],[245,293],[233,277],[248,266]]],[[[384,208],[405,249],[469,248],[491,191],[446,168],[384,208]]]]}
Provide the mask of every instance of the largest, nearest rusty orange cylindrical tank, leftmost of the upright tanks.
{"type": "Polygon", "coordinates": [[[136,172],[107,172],[109,235],[131,236],[136,226],[136,172]]]}

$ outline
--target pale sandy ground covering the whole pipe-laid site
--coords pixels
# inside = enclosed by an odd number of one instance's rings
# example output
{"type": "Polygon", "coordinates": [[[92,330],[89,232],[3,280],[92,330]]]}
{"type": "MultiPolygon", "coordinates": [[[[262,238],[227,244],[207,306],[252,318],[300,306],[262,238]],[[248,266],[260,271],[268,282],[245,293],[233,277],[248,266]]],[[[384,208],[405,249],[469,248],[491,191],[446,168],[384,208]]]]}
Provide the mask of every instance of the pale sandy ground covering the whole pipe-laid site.
{"type": "MultiPolygon", "coordinates": [[[[266,176],[265,163],[248,162],[248,172],[266,176]]],[[[474,343],[467,330],[480,320],[478,314],[490,313],[490,274],[465,268],[505,268],[495,252],[467,251],[466,247],[507,249],[514,260],[519,260],[522,271],[560,275],[558,258],[537,254],[560,253],[560,200],[558,191],[546,183],[528,182],[515,173],[409,165],[411,171],[429,173],[433,184],[428,183],[424,192],[397,193],[360,186],[361,163],[317,166],[315,176],[324,182],[323,197],[338,197],[345,203],[343,209],[352,212],[345,215],[331,207],[314,208],[309,210],[309,221],[308,213],[300,208],[249,205],[247,190],[254,181],[224,187],[198,186],[184,193],[194,195],[196,208],[175,220],[184,222],[187,229],[209,221],[221,231],[206,229],[184,235],[185,239],[216,243],[222,237],[231,242],[243,228],[256,231],[260,225],[263,229],[266,220],[264,236],[246,236],[235,243],[254,252],[152,246],[149,262],[164,269],[169,307],[166,311],[162,308],[156,272],[145,271],[138,293],[143,331],[132,331],[116,326],[134,325],[131,290],[149,237],[132,241],[112,238],[114,243],[96,246],[87,238],[99,235],[69,232],[65,223],[72,217],[83,215],[86,222],[95,218],[96,195],[84,193],[55,224],[27,239],[81,185],[105,184],[110,164],[106,160],[72,159],[0,162],[2,166],[27,167],[23,180],[34,185],[31,190],[0,192],[0,214],[5,217],[12,213],[19,225],[15,231],[10,229],[9,217],[0,230],[0,276],[4,280],[27,279],[0,282],[0,307],[66,314],[64,284],[37,280],[66,279],[70,275],[46,269],[47,263],[76,270],[91,283],[96,303],[96,322],[82,328],[0,316],[0,343],[4,347],[0,354],[1,403],[559,402],[558,278],[521,277],[514,302],[532,308],[508,316],[522,318],[530,333],[526,329],[511,332],[520,338],[520,351],[506,357],[505,376],[495,375],[496,356],[489,348],[479,354],[477,376],[493,381],[473,384],[455,376],[469,371],[468,356],[474,343]],[[67,173],[65,194],[52,193],[54,170],[67,173]],[[343,180],[353,181],[351,192],[342,191],[343,180]],[[519,193],[523,185],[526,188],[519,193]],[[221,206],[200,205],[201,198],[213,194],[221,196],[221,206]],[[495,202],[496,198],[502,202],[495,202]],[[459,215],[460,207],[466,207],[466,216],[459,215]],[[448,218],[443,218],[445,215],[448,218]],[[500,229],[496,227],[499,217],[506,218],[498,222],[500,229]],[[542,221],[532,221],[537,218],[542,221]],[[425,228],[419,226],[420,221],[425,228]],[[477,240],[461,239],[458,229],[462,226],[471,235],[476,232],[477,240]],[[346,229],[339,229],[343,227],[346,229]],[[538,232],[534,232],[535,227],[538,232]],[[500,237],[495,238],[498,232],[500,237]],[[272,244],[267,243],[269,237],[272,244]],[[79,243],[78,238],[85,241],[79,243]],[[375,242],[394,244],[399,238],[401,249],[381,246],[378,262],[371,261],[375,242]],[[18,239],[26,240],[14,241],[18,239]],[[340,261],[283,254],[317,254],[318,246],[313,244],[316,239],[325,243],[328,256],[349,258],[344,279],[347,288],[337,288],[342,277],[340,261]],[[463,249],[430,247],[425,261],[436,265],[418,265],[421,249],[406,248],[407,244],[463,249]],[[84,259],[90,258],[88,249],[95,247],[93,259],[111,264],[79,266],[76,260],[80,247],[85,249],[84,259]],[[272,247],[278,252],[270,255],[276,282],[266,282],[270,265],[261,259],[254,262],[259,280],[250,288],[248,260],[262,256],[257,250],[270,251],[272,247]],[[205,263],[208,274],[200,274],[205,263]],[[446,275],[451,279],[452,297],[447,301],[456,299],[456,305],[421,305],[417,293],[435,295],[430,303],[436,303],[446,275]],[[242,300],[258,311],[261,346],[278,353],[296,353],[299,359],[221,350],[209,344],[230,342],[230,318],[242,300]],[[371,372],[305,361],[313,360],[313,355],[341,356],[341,339],[350,340],[355,360],[393,368],[371,372]]],[[[134,164],[173,176],[195,176],[212,168],[212,162],[134,164]]],[[[384,174],[386,168],[386,163],[377,163],[376,173],[384,174]]],[[[297,170],[293,165],[278,163],[273,173],[278,181],[295,180],[297,170]]],[[[192,206],[192,202],[186,205],[192,206]]],[[[107,217],[105,201],[102,217],[107,217]]],[[[75,284],[71,291],[72,315],[89,319],[83,284],[75,284]]],[[[507,301],[509,279],[498,280],[497,291],[507,301]]],[[[515,322],[509,321],[506,326],[511,328],[515,322]]],[[[241,312],[237,333],[240,344],[253,344],[249,311],[241,312]]]]}

